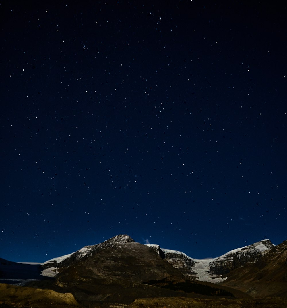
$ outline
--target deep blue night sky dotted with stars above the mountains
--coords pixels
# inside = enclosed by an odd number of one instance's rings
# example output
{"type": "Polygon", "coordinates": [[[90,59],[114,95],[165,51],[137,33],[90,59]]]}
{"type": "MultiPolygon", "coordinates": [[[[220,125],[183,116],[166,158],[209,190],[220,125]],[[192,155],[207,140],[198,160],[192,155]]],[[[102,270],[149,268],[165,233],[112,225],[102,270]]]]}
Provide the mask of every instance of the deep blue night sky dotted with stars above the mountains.
{"type": "Polygon", "coordinates": [[[0,2],[0,257],[117,234],[287,238],[283,2],[0,2]]]}

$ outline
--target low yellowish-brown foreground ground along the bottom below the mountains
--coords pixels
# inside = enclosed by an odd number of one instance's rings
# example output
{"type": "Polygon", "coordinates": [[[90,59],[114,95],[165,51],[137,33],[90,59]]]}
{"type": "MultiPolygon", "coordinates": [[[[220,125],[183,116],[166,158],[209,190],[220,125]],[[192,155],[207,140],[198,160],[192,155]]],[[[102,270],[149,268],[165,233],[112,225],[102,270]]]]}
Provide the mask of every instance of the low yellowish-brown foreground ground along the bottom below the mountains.
{"type": "MultiPolygon", "coordinates": [[[[133,286],[134,288],[135,286],[133,286]]],[[[132,289],[133,289],[132,288],[132,289]]],[[[160,288],[158,288],[160,289],[160,288]]],[[[108,289],[106,289],[107,291],[108,289]]],[[[137,288],[136,288],[137,290],[137,288]]],[[[144,290],[144,289],[143,289],[144,290]]],[[[168,291],[168,290],[166,290],[168,291]]],[[[88,290],[87,290],[88,292],[88,290]]],[[[0,284],[0,308],[284,308],[287,307],[285,298],[228,298],[215,296],[200,296],[198,294],[166,294],[144,290],[150,298],[136,298],[130,304],[123,303],[122,292],[117,298],[109,297],[107,301],[76,301],[70,293],[61,294],[52,290],[10,286],[0,284]],[[187,295],[187,296],[184,296],[187,295]]],[[[143,294],[142,293],[142,294],[143,294]]],[[[108,294],[106,294],[108,295],[108,294]]],[[[138,293],[140,295],[140,293],[138,293]]],[[[126,294],[127,296],[127,294],[126,294]]],[[[125,296],[124,296],[125,297],[125,296]]],[[[131,297],[130,297],[131,298],[131,297]]]]}

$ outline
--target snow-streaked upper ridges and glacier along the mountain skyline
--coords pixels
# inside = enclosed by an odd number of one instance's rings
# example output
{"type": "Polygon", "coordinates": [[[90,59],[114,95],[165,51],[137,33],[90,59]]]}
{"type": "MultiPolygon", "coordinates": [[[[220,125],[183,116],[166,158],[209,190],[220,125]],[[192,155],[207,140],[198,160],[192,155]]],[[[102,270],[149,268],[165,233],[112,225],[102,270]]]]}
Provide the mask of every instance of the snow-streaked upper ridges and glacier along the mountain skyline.
{"type": "MultiPolygon", "coordinates": [[[[83,261],[96,253],[119,244],[135,243],[128,235],[117,235],[97,245],[85,246],[74,253],[53,258],[41,264],[44,268],[42,275],[53,277],[62,269],[83,261]]],[[[141,245],[141,244],[140,244],[141,245]]],[[[162,249],[159,245],[145,245],[153,249],[161,259],[165,259],[174,268],[178,269],[185,279],[198,279],[213,283],[222,282],[230,271],[254,263],[259,257],[273,249],[274,245],[269,240],[262,240],[252,245],[231,250],[220,257],[198,260],[187,256],[185,253],[170,249],[162,249]]],[[[125,246],[128,247],[128,246],[125,246]]]]}

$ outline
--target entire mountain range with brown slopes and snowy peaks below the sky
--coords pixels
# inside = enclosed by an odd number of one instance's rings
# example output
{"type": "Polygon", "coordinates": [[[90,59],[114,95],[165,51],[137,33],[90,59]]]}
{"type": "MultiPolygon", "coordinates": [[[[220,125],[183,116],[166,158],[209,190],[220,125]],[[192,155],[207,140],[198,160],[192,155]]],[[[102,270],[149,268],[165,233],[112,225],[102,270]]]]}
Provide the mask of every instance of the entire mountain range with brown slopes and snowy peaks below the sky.
{"type": "MultiPolygon", "coordinates": [[[[247,301],[266,295],[287,297],[287,241],[275,246],[269,240],[261,240],[216,258],[200,260],[159,245],[140,244],[120,234],[41,265],[1,261],[0,278],[5,273],[5,283],[71,293],[86,307],[127,305],[136,298],[148,297],[213,296],[215,301],[223,297],[247,301]],[[42,280],[27,282],[22,277],[22,281],[7,282],[9,275],[17,275],[18,271],[27,274],[28,268],[42,274],[42,280]]],[[[19,295],[19,302],[20,299],[19,295]]]]}

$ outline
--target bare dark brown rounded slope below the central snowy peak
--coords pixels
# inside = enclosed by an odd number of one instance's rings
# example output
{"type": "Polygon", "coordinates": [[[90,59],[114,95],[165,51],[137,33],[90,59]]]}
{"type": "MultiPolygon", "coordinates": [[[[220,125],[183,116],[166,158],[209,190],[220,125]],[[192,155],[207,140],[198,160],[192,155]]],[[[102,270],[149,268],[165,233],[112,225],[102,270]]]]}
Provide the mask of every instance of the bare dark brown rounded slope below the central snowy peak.
{"type": "MultiPolygon", "coordinates": [[[[88,276],[134,282],[169,278],[182,280],[181,272],[160,258],[154,250],[131,241],[113,243],[109,247],[105,246],[104,249],[96,249],[96,251],[93,247],[87,256],[80,260],[70,263],[69,267],[60,268],[58,279],[61,280],[63,275],[77,273],[77,277],[88,276]]],[[[61,266],[61,263],[59,265],[61,266]]]]}

